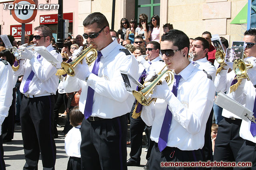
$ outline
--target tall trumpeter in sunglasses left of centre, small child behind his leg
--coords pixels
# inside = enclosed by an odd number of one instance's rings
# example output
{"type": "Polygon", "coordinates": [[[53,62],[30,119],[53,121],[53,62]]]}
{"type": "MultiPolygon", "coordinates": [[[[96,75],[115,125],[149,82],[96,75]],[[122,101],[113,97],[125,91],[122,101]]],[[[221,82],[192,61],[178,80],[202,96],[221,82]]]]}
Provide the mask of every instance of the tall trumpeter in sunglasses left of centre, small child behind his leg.
{"type": "Polygon", "coordinates": [[[137,79],[138,62],[116,39],[112,40],[103,14],[88,15],[83,25],[83,36],[98,49],[98,57],[90,67],[85,61],[77,64],[75,76],[67,76],[63,84],[66,92],[82,88],[79,101],[79,110],[85,116],[81,125],[82,169],[127,170],[126,113],[132,109],[134,97],[126,91],[120,70],[137,79]]]}

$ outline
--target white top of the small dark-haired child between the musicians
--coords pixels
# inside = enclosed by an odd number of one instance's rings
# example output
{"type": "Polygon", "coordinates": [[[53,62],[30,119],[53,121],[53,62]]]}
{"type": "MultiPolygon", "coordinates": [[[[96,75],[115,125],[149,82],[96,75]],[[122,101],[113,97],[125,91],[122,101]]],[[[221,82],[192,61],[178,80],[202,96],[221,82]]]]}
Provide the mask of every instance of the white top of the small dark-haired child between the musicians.
{"type": "Polygon", "coordinates": [[[68,156],[74,156],[77,158],[81,158],[80,153],[80,145],[82,141],[81,132],[80,132],[81,125],[77,127],[73,127],[68,131],[65,137],[65,150],[68,156]]]}

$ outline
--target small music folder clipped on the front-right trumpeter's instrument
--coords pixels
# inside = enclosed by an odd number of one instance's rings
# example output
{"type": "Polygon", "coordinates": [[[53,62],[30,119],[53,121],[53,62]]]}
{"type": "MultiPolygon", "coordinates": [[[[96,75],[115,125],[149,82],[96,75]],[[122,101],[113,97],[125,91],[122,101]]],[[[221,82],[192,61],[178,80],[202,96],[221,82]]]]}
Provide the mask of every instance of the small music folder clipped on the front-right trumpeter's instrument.
{"type": "Polygon", "coordinates": [[[138,82],[138,80],[136,80],[131,74],[129,74],[129,72],[124,71],[124,70],[120,70],[120,73],[121,73],[122,78],[124,80],[126,90],[129,93],[132,93],[132,90],[136,90],[136,89],[132,89],[132,86],[131,86],[130,82],[133,82],[134,84],[136,84],[140,88],[145,88],[140,82],[138,82]]]}

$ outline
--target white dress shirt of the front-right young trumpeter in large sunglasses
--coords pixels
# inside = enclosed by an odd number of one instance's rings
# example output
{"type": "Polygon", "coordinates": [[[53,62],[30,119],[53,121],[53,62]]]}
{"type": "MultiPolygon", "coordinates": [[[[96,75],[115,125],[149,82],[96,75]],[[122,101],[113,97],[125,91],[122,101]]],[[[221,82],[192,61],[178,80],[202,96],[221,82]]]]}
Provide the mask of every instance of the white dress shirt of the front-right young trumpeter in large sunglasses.
{"type": "MultiPolygon", "coordinates": [[[[167,104],[172,112],[168,147],[180,150],[197,150],[204,146],[206,122],[214,99],[214,84],[202,70],[190,63],[181,75],[177,97],[171,93],[169,101],[157,99],[155,104],[142,107],[141,117],[152,125],[150,139],[158,143],[167,104]]],[[[169,87],[172,90],[172,86],[169,87]]]]}

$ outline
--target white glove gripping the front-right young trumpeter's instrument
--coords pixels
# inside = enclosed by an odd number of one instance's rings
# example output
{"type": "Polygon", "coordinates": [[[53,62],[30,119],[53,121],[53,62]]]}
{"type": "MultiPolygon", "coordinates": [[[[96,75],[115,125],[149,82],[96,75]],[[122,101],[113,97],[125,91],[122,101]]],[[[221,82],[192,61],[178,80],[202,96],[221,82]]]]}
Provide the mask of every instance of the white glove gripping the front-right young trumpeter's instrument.
{"type": "Polygon", "coordinates": [[[159,99],[167,99],[170,97],[172,92],[170,91],[167,82],[164,80],[162,81],[162,85],[156,85],[153,89],[153,94],[150,94],[150,98],[159,98],[159,99]]]}

